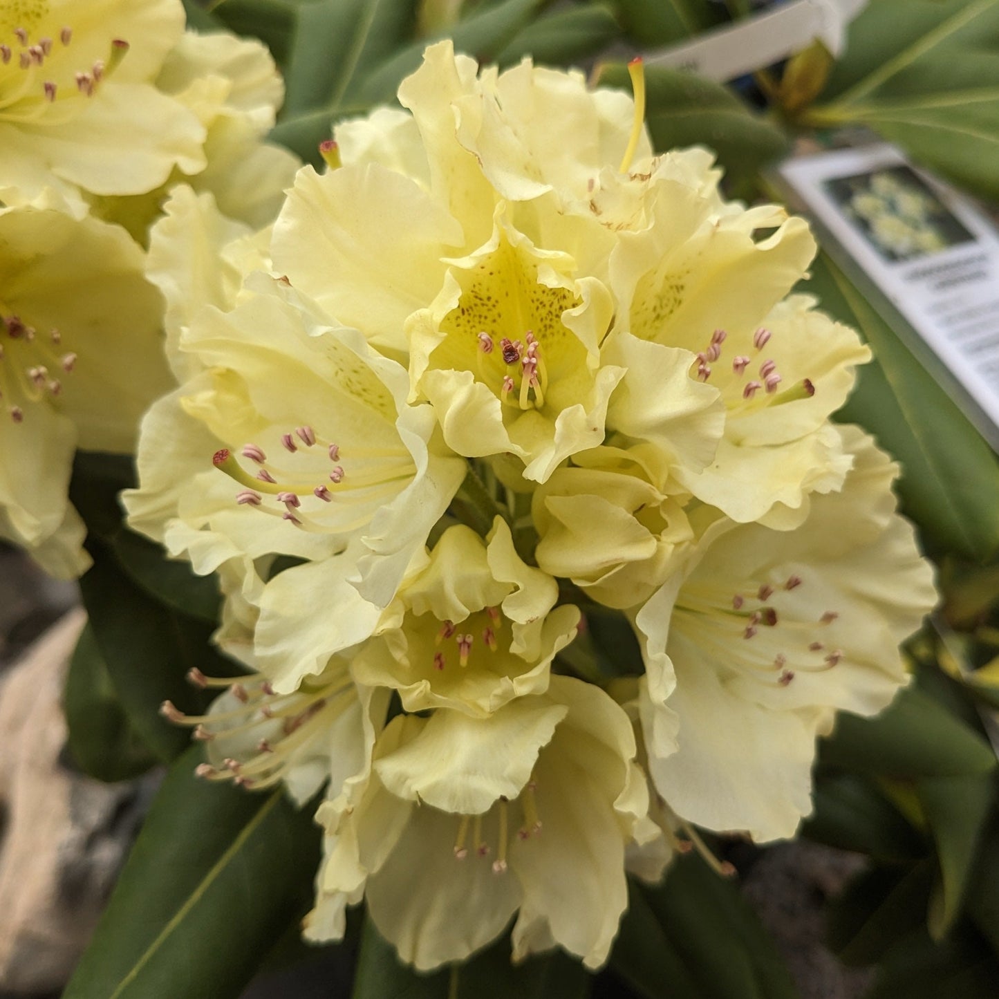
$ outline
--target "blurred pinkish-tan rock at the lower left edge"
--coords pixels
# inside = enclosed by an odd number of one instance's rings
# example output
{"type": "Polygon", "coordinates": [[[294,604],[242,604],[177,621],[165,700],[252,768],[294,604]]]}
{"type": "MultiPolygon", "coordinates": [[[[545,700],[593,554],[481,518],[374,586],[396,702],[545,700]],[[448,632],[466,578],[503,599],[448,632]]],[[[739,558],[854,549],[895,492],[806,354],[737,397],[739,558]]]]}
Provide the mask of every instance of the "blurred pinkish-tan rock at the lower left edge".
{"type": "Polygon", "coordinates": [[[0,683],[0,992],[61,990],[131,845],[142,784],[65,763],[61,708],[86,616],[66,614],[0,683]]]}

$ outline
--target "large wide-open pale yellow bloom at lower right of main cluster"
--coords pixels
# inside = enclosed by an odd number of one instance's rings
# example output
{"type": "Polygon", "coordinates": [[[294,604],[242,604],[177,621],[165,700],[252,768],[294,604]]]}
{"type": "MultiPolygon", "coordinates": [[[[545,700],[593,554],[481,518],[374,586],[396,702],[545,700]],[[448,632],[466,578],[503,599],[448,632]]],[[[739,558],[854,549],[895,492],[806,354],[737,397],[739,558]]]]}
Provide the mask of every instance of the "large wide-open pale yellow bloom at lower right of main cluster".
{"type": "Polygon", "coordinates": [[[642,724],[655,786],[681,817],[758,839],[810,810],[816,734],[874,714],[906,682],[899,643],[936,601],[897,467],[840,428],[853,469],[793,530],[718,520],[644,604],[642,724]]]}

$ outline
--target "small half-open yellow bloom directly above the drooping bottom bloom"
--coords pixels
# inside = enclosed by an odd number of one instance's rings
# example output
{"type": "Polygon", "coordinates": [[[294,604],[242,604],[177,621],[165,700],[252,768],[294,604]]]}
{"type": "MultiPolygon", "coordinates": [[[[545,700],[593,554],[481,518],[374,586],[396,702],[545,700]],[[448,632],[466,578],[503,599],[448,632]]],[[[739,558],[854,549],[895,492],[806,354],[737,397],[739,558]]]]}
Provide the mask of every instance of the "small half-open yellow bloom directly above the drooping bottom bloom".
{"type": "Polygon", "coordinates": [[[407,711],[454,707],[485,716],[543,692],[579,611],[555,607],[558,586],[527,565],[497,517],[486,542],[449,527],[389,605],[354,662],[361,683],[398,689],[407,711]]]}

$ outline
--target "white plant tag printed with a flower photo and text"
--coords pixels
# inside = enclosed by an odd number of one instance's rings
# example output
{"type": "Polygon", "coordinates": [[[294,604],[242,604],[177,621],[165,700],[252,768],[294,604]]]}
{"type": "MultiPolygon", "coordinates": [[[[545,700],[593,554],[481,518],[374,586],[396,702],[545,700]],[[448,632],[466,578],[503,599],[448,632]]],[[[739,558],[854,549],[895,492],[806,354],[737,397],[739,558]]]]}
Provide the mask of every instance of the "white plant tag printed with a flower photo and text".
{"type": "Polygon", "coordinates": [[[830,256],[999,450],[999,232],[991,221],[887,143],[795,157],[777,174],[830,256]]]}

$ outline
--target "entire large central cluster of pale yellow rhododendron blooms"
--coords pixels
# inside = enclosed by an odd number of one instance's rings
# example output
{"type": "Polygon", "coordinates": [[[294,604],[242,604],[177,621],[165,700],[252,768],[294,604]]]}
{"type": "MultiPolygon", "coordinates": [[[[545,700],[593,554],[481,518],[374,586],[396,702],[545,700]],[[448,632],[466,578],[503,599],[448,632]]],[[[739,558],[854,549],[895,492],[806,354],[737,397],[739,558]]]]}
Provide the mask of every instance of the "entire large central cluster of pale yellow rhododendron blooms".
{"type": "Polygon", "coordinates": [[[932,573],[896,467],[829,420],[869,353],[791,294],[803,221],[652,154],[633,70],[634,101],[444,42],[269,241],[193,193],[153,230],[180,385],[126,503],[220,571],[250,669],[165,711],[208,779],[325,784],[310,939],[364,897],[420,969],[511,920],[515,958],[598,967],[625,870],[693,823],[791,835],[835,712],[906,682],[932,573]],[[570,675],[611,612],[630,687],[570,675]]]}

